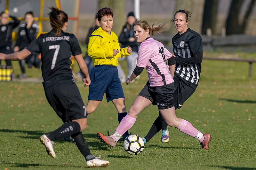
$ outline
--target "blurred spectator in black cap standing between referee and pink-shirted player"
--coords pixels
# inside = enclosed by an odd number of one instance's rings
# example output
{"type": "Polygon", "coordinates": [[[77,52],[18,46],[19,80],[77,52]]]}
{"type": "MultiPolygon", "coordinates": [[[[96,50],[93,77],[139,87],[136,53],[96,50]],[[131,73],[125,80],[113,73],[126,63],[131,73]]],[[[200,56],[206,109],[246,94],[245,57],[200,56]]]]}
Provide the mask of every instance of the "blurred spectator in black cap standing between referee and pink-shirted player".
{"type": "Polygon", "coordinates": [[[122,69],[121,65],[118,64],[118,76],[121,79],[121,82],[126,82],[126,78],[132,75],[134,68],[136,67],[136,61],[138,58],[138,46],[140,45],[136,39],[134,38],[133,34],[133,24],[135,23],[136,18],[133,12],[129,12],[127,15],[127,21],[123,27],[122,33],[119,36],[119,42],[122,44],[122,48],[130,46],[132,47],[132,54],[124,57],[119,58],[118,61],[127,60],[127,67],[128,67],[128,75],[125,76],[124,70],[122,69]]]}

